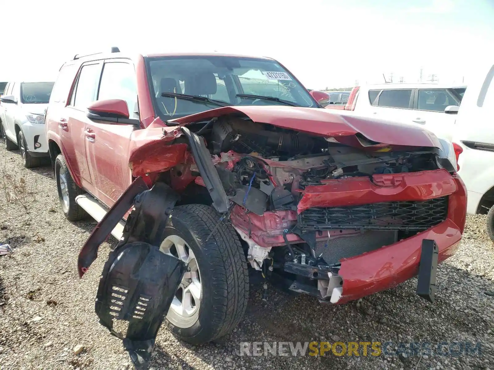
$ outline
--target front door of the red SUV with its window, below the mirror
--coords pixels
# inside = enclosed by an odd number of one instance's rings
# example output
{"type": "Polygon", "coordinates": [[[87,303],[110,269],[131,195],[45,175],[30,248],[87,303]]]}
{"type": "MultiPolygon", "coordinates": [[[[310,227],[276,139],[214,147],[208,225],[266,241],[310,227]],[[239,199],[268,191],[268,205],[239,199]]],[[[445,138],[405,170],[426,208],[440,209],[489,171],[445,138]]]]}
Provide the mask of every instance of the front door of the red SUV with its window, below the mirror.
{"type": "MultiPolygon", "coordinates": [[[[131,61],[105,61],[97,99],[122,99],[127,103],[130,118],[139,118],[135,69],[131,61]]],[[[86,118],[84,142],[95,195],[110,207],[132,182],[128,155],[133,130],[133,125],[86,118]]]]}

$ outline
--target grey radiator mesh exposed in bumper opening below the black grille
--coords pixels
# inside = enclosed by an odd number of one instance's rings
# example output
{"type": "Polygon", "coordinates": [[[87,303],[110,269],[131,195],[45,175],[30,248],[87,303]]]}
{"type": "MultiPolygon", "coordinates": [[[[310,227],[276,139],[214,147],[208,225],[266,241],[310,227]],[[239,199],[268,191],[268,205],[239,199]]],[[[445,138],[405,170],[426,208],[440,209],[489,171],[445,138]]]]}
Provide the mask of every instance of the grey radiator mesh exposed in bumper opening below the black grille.
{"type": "Polygon", "coordinates": [[[398,231],[364,231],[351,236],[340,236],[316,243],[316,256],[321,256],[330,266],[340,259],[371,252],[397,241],[398,231]]]}

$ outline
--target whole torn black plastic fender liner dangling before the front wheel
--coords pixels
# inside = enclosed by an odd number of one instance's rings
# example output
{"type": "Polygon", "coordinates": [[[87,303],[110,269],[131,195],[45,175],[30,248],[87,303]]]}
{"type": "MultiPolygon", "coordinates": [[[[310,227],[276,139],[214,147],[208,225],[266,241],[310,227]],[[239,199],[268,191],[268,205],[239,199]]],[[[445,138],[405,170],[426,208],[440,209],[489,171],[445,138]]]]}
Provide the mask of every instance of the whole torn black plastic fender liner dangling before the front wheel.
{"type": "Polygon", "coordinates": [[[186,264],[156,246],[179,195],[158,181],[134,199],[119,245],[101,274],[95,311],[100,324],[123,339],[136,369],[147,369],[156,335],[182,280],[186,264]],[[129,322],[126,337],[113,319],[129,322]]]}

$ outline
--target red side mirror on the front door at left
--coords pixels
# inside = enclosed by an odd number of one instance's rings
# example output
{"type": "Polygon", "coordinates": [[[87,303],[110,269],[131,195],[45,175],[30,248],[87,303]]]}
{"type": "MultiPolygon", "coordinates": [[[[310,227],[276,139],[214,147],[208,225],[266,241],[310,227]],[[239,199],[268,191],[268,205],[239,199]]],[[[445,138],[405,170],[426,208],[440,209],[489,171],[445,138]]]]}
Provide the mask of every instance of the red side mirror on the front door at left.
{"type": "Polygon", "coordinates": [[[127,102],[122,99],[99,100],[87,107],[87,118],[93,121],[124,123],[138,126],[138,119],[129,118],[127,102]]]}

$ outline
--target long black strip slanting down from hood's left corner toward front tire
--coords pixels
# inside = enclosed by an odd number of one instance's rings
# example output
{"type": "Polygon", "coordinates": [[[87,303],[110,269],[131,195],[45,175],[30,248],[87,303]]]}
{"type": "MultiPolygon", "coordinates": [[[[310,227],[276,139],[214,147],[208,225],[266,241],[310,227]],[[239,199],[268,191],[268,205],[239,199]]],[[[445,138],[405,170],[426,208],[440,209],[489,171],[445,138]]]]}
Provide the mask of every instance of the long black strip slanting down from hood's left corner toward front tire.
{"type": "Polygon", "coordinates": [[[204,141],[187,127],[181,127],[185,137],[189,140],[189,146],[196,162],[199,173],[203,178],[206,189],[213,200],[212,206],[219,213],[228,212],[229,200],[221,183],[216,168],[211,161],[211,154],[207,150],[204,141]]]}

